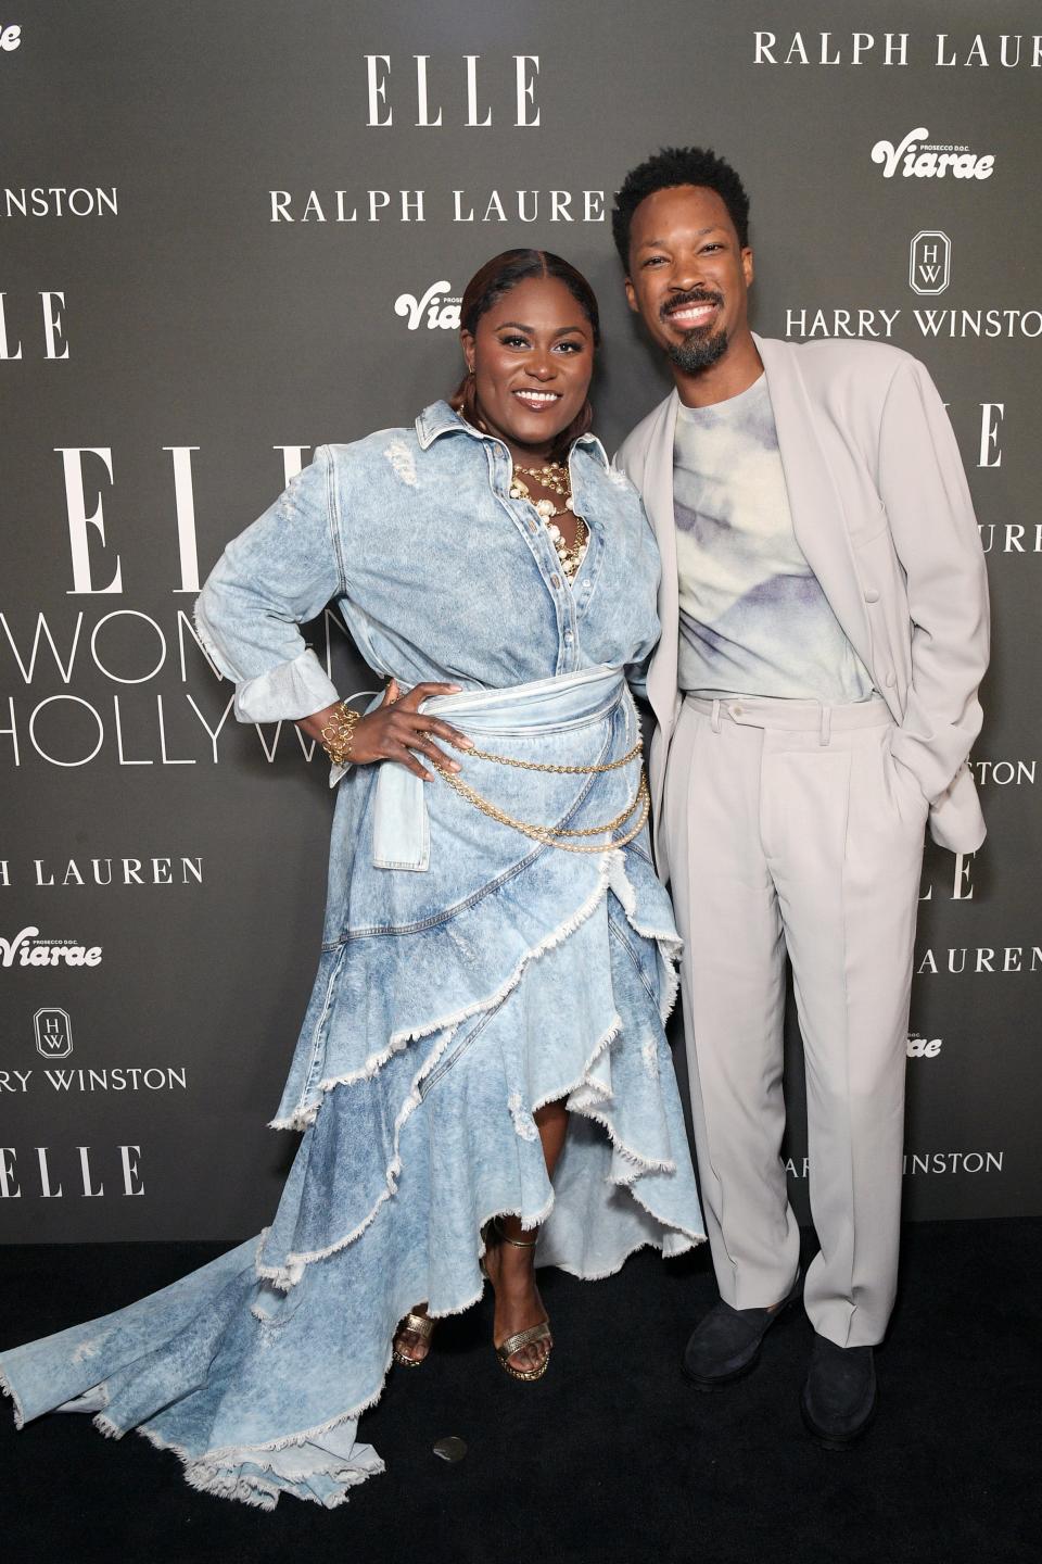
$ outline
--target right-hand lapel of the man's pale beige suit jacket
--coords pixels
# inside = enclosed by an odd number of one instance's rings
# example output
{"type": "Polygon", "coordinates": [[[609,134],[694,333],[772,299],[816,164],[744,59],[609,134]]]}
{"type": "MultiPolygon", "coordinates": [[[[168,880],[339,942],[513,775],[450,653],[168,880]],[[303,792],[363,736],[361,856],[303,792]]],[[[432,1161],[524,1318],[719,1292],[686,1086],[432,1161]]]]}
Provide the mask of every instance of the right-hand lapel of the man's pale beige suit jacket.
{"type": "Polygon", "coordinates": [[[872,644],[844,504],[817,435],[792,343],[753,333],[778,430],[792,530],[847,640],[870,666],[872,644]]]}

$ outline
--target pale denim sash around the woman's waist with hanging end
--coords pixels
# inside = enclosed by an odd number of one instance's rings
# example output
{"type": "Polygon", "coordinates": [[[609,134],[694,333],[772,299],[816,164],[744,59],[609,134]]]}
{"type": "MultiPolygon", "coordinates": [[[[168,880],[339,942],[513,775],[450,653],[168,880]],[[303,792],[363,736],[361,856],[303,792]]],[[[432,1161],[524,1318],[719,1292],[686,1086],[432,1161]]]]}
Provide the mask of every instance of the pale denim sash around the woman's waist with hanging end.
{"type": "MultiPolygon", "coordinates": [[[[483,740],[567,734],[606,718],[625,690],[619,668],[597,666],[505,690],[431,696],[419,710],[459,723],[469,737],[483,740]]],[[[428,868],[431,841],[423,791],[428,785],[395,760],[380,763],[373,816],[375,868],[428,868]]]]}

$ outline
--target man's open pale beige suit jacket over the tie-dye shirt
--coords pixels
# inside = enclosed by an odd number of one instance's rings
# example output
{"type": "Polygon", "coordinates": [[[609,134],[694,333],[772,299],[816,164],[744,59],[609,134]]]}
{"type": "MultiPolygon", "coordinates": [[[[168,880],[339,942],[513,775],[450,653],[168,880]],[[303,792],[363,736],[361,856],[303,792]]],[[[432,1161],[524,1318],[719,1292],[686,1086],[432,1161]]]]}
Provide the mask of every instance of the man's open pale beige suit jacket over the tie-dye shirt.
{"type": "MultiPolygon", "coordinates": [[[[987,574],[944,404],[923,364],[883,343],[755,341],[797,541],[890,708],[894,759],[930,801],[934,841],[973,852],[984,818],[967,757],[981,729],[987,574]]],[[[616,458],[644,496],[662,557],[662,637],[647,676],[658,723],[648,762],[656,818],[681,704],[676,407],[672,391],[616,458]]]]}

